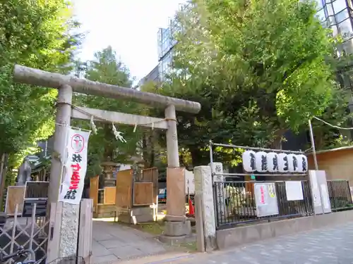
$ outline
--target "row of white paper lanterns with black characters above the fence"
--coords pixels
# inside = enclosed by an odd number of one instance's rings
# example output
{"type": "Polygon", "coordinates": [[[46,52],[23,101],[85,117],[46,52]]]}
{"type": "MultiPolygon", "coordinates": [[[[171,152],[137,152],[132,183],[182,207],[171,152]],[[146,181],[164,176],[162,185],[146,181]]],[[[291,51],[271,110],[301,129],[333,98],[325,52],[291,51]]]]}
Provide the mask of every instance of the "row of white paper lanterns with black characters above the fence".
{"type": "Polygon", "coordinates": [[[245,151],[242,159],[246,172],[304,173],[308,171],[308,159],[302,154],[245,151]]]}

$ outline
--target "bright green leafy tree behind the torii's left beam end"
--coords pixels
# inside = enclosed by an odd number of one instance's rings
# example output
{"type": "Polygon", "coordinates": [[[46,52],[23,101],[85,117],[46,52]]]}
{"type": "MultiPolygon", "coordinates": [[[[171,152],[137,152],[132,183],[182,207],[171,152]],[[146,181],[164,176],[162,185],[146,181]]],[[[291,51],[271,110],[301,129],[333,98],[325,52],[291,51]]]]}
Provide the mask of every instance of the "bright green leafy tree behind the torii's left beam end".
{"type": "Polygon", "coordinates": [[[54,130],[56,90],[13,82],[14,64],[69,73],[80,34],[66,0],[0,3],[0,153],[19,165],[54,130]]]}

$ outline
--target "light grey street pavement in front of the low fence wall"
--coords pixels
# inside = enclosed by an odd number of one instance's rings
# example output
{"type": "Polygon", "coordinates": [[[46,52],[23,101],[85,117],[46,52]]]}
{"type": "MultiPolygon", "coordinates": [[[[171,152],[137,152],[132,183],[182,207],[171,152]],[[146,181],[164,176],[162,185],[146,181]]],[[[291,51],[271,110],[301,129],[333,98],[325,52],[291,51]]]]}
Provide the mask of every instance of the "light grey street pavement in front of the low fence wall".
{"type": "Polygon", "coordinates": [[[311,230],[310,232],[267,239],[229,251],[198,253],[191,258],[164,263],[352,264],[353,222],[325,230],[311,230]]]}

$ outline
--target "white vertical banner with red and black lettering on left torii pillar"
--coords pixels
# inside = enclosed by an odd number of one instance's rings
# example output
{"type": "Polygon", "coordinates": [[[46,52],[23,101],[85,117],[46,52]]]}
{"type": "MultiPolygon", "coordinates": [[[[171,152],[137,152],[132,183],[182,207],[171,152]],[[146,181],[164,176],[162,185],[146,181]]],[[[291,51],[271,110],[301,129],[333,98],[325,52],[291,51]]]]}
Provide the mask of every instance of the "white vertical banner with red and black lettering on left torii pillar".
{"type": "Polygon", "coordinates": [[[87,149],[90,131],[70,127],[67,142],[67,162],[61,183],[59,201],[78,204],[81,201],[87,171],[87,149]]]}

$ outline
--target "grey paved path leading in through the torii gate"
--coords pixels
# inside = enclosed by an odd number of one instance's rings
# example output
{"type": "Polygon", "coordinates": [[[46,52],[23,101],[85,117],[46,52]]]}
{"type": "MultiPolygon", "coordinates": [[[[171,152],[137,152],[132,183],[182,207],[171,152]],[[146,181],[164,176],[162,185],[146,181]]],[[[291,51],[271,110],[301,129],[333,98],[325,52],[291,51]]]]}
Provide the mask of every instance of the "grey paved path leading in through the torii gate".
{"type": "Polygon", "coordinates": [[[154,239],[152,234],[116,222],[93,220],[92,264],[116,263],[129,258],[167,253],[169,249],[154,239]]]}

